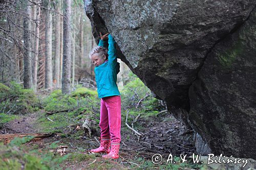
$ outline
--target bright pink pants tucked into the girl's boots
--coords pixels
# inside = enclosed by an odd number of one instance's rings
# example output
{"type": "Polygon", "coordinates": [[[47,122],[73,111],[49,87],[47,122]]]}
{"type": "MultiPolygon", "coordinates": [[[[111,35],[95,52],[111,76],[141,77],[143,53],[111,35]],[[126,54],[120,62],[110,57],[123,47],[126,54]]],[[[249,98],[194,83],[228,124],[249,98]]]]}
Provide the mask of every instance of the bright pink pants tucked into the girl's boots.
{"type": "Polygon", "coordinates": [[[100,100],[99,127],[101,139],[111,138],[111,142],[121,141],[121,97],[108,96],[100,100]]]}

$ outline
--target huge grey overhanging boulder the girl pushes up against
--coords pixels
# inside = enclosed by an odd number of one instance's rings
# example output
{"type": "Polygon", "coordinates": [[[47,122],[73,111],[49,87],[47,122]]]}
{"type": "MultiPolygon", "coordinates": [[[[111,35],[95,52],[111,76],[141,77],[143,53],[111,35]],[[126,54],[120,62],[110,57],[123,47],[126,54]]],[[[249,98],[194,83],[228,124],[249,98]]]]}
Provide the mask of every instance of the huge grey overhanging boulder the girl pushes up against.
{"type": "Polygon", "coordinates": [[[119,58],[197,132],[199,152],[252,158],[255,4],[84,0],[95,39],[113,35],[119,58]]]}

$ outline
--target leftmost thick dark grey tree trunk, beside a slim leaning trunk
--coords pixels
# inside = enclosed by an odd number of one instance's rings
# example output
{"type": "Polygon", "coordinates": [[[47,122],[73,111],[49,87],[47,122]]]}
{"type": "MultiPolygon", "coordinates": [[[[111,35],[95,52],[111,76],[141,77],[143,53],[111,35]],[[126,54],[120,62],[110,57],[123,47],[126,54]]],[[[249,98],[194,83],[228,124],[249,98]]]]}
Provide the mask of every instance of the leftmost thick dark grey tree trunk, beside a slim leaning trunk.
{"type": "Polygon", "coordinates": [[[30,30],[31,30],[31,7],[29,1],[25,1],[26,5],[26,16],[24,16],[24,88],[32,87],[32,53],[31,53],[31,39],[30,39],[30,30]]]}

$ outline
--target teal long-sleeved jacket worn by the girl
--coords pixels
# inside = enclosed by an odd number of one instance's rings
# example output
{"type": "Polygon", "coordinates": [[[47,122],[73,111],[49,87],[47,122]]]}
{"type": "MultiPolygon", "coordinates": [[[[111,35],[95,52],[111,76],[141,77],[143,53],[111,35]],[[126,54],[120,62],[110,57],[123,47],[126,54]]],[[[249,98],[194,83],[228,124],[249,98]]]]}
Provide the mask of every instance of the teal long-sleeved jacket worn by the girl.
{"type": "MultiPolygon", "coordinates": [[[[117,80],[117,56],[116,56],[116,41],[109,34],[109,60],[94,68],[97,91],[99,98],[106,96],[120,95],[116,80],[117,80]]],[[[106,47],[106,42],[100,40],[99,46],[106,47]]]]}

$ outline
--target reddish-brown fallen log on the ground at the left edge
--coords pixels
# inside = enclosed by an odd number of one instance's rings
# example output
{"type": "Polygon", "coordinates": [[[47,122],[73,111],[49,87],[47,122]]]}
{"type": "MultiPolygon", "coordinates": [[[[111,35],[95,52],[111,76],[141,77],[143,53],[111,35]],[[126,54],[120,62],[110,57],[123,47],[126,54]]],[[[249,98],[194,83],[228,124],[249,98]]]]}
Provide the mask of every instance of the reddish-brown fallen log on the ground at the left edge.
{"type": "Polygon", "coordinates": [[[51,133],[13,133],[13,134],[2,134],[0,135],[0,141],[4,141],[5,144],[10,143],[15,137],[23,138],[26,136],[33,136],[33,140],[40,140],[51,136],[51,133]]]}

